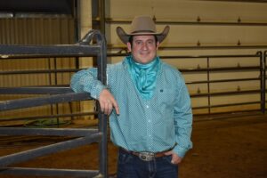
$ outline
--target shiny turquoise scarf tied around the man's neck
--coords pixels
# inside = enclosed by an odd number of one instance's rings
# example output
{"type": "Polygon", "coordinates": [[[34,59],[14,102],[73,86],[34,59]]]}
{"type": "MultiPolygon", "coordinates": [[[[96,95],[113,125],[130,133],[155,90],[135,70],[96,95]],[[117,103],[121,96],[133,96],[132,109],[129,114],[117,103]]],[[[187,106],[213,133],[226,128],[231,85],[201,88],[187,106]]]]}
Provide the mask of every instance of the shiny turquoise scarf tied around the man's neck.
{"type": "Polygon", "coordinates": [[[159,58],[156,57],[148,64],[141,64],[135,62],[133,56],[130,55],[126,57],[126,61],[138,92],[142,95],[142,98],[149,100],[152,98],[156,87],[156,78],[160,67],[159,58]]]}

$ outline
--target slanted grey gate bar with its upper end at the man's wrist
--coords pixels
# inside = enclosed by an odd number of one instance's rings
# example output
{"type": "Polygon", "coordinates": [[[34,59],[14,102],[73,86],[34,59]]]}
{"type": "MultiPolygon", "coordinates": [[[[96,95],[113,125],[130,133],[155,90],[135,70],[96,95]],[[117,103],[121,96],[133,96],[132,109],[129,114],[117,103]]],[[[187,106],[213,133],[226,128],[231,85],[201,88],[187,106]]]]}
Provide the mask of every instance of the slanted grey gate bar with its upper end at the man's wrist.
{"type": "Polygon", "coordinates": [[[27,99],[19,99],[12,101],[1,101],[0,111],[11,110],[11,109],[23,109],[36,106],[43,106],[47,104],[55,104],[55,103],[70,102],[70,101],[83,101],[90,99],[93,100],[93,98],[90,96],[89,93],[64,93],[64,94],[56,94],[53,96],[27,98],[27,99]]]}

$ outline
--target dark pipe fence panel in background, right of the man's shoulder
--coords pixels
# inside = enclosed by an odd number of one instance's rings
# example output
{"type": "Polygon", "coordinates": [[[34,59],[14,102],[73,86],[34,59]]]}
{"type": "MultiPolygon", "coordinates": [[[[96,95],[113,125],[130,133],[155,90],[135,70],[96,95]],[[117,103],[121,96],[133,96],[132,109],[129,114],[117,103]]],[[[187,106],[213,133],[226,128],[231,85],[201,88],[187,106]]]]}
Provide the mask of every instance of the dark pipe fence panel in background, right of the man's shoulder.
{"type": "MultiPolygon", "coordinates": [[[[117,57],[117,56],[125,56],[127,53],[108,53],[109,57],[117,57]]],[[[211,109],[213,108],[220,108],[220,107],[230,107],[230,106],[239,106],[239,105],[248,105],[248,104],[259,104],[260,109],[254,109],[253,111],[260,111],[261,113],[265,114],[265,80],[266,80],[266,58],[267,58],[267,51],[264,53],[262,51],[257,51],[254,54],[221,54],[221,55],[161,55],[159,56],[162,60],[180,60],[180,59],[203,59],[206,61],[206,68],[189,68],[189,69],[178,69],[182,72],[182,74],[186,73],[192,73],[192,72],[206,72],[206,80],[200,80],[200,81],[193,81],[193,82],[186,82],[186,85],[196,85],[196,84],[206,84],[207,85],[207,92],[206,93],[191,93],[190,98],[201,98],[206,97],[207,98],[207,104],[205,106],[197,106],[192,107],[192,109],[207,109],[207,112],[205,114],[195,114],[197,115],[212,115],[212,114],[218,114],[218,113],[212,113],[211,109]],[[212,68],[210,67],[210,61],[213,59],[223,59],[223,58],[257,58],[259,61],[258,66],[246,66],[246,67],[226,67],[226,68],[212,68]],[[212,80],[210,79],[210,74],[214,71],[233,71],[236,69],[236,71],[245,71],[245,70],[253,70],[259,72],[259,77],[250,77],[250,78],[234,78],[234,79],[223,79],[223,80],[212,80]],[[233,81],[258,81],[260,83],[260,88],[256,90],[246,90],[246,91],[230,91],[230,92],[218,92],[218,93],[212,93],[210,92],[210,85],[215,83],[223,83],[223,82],[233,82],[233,81]],[[212,105],[211,104],[211,97],[212,96],[225,96],[225,95],[238,95],[242,93],[259,93],[260,94],[260,101],[249,101],[249,102],[236,102],[231,104],[217,104],[212,105]]],[[[243,110],[244,111],[244,110],[243,110]]],[[[224,112],[224,113],[236,113],[236,112],[242,112],[242,110],[238,111],[230,111],[230,112],[224,112]]],[[[222,113],[219,113],[222,114],[222,113]]]]}

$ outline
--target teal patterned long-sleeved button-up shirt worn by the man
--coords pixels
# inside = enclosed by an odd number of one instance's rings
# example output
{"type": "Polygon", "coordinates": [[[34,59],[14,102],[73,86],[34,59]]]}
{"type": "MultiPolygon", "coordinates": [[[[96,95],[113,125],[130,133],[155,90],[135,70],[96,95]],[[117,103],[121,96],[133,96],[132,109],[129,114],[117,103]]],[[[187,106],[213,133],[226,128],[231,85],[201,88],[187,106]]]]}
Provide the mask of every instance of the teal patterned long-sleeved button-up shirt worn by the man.
{"type": "Polygon", "coordinates": [[[90,93],[98,99],[108,88],[117,101],[109,116],[111,141],[125,150],[159,152],[174,147],[179,157],[192,148],[190,95],[181,73],[160,61],[156,88],[150,100],[136,90],[127,62],[109,64],[107,85],[97,80],[97,69],[78,71],[70,82],[75,92],[90,93]]]}

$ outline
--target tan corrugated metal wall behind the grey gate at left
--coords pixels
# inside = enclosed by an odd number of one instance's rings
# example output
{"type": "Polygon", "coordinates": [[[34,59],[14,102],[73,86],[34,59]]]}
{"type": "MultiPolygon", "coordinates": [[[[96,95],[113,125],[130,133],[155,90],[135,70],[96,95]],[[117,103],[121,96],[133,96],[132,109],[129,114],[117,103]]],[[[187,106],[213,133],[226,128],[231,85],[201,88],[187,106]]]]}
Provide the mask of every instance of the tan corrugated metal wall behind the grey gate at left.
{"type": "MultiPolygon", "coordinates": [[[[0,44],[74,44],[75,20],[72,17],[38,16],[0,18],[0,44]]],[[[74,69],[73,58],[0,60],[0,87],[69,85],[71,73],[32,72],[48,69],[74,69]],[[12,74],[17,71],[18,74],[12,74]],[[11,74],[7,74],[11,72],[11,74]]],[[[0,94],[0,100],[12,100],[20,95],[0,94]]],[[[68,113],[69,104],[36,107],[1,112],[0,117],[28,117],[68,113]]]]}

